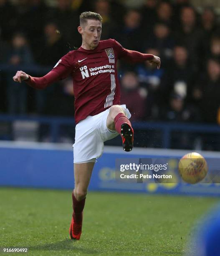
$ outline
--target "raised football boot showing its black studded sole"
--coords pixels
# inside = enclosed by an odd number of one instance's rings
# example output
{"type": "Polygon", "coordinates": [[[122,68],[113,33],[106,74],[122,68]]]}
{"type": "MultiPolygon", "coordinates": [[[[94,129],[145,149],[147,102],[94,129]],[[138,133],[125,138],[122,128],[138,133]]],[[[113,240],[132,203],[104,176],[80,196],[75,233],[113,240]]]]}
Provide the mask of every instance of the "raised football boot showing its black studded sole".
{"type": "Polygon", "coordinates": [[[121,137],[124,151],[131,151],[134,142],[134,130],[129,124],[122,123],[121,137]]]}

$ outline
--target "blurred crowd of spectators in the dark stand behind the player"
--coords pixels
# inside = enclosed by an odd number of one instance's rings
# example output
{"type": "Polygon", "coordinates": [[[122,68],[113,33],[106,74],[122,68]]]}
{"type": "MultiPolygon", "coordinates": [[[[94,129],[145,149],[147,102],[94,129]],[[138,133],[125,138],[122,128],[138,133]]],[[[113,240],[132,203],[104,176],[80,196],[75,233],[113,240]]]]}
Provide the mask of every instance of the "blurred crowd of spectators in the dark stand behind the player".
{"type": "Polygon", "coordinates": [[[211,6],[198,12],[188,0],[143,0],[139,8],[132,1],[55,2],[0,0],[1,112],[74,115],[69,78],[38,91],[12,77],[15,70],[43,76],[80,47],[79,14],[91,10],[103,17],[101,39],[161,58],[159,70],[119,61],[121,104],[132,120],[220,124],[220,19],[211,6]]]}

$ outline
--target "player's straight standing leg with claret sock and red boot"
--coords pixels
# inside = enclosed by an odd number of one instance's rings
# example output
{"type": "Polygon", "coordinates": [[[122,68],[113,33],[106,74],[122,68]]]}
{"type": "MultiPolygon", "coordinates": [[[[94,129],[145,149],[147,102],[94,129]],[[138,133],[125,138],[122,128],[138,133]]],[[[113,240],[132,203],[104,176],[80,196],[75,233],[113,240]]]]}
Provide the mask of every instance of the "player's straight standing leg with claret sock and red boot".
{"type": "MultiPolygon", "coordinates": [[[[94,159],[95,160],[95,159],[94,159]]],[[[87,189],[89,186],[93,162],[74,164],[75,188],[72,193],[73,216],[70,225],[70,237],[79,240],[82,232],[83,208],[85,205],[87,189]]]]}

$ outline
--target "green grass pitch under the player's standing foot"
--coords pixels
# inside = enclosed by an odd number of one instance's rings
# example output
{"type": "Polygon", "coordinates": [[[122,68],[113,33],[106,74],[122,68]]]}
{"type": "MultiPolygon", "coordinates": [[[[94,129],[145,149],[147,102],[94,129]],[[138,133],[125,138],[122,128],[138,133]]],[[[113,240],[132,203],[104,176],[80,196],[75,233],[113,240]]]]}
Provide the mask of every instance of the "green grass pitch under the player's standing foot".
{"type": "Polygon", "coordinates": [[[90,192],[81,240],[71,241],[71,191],[1,188],[0,247],[34,256],[183,255],[193,224],[217,201],[90,192]]]}

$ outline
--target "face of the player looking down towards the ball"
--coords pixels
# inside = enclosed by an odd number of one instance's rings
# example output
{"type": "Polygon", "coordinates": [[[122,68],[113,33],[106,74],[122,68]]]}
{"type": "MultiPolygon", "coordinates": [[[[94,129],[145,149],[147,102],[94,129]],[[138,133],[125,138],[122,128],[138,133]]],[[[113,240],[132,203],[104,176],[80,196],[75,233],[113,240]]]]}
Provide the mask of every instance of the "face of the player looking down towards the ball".
{"type": "Polygon", "coordinates": [[[89,49],[95,49],[100,41],[101,22],[99,20],[87,20],[87,24],[82,27],[83,44],[89,49]]]}

